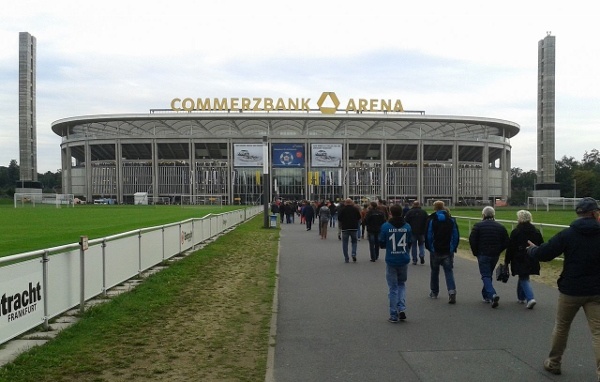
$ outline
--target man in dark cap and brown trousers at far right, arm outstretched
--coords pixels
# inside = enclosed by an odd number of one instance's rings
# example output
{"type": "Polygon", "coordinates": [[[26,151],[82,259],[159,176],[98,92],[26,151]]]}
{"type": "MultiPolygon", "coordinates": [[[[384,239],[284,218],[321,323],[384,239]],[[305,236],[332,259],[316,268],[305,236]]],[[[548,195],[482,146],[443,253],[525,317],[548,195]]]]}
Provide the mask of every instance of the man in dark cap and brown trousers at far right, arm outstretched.
{"type": "Polygon", "coordinates": [[[558,306],[552,345],[544,369],[561,373],[562,356],[567,348],[569,328],[580,308],[592,332],[596,355],[596,378],[600,381],[600,207],[592,198],[583,198],[575,208],[577,219],[547,243],[536,246],[529,241],[527,253],[539,261],[564,255],[558,278],[558,306]]]}

